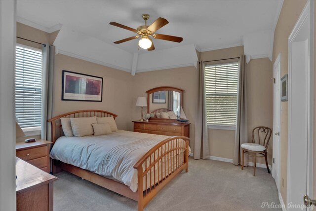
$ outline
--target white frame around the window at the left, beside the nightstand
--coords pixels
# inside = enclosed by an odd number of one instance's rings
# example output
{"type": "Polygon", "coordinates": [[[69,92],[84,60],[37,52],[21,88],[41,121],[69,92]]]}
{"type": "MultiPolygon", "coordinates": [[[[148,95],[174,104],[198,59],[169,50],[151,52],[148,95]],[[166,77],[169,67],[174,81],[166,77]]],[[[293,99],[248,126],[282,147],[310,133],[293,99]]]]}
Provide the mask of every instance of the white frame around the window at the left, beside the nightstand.
{"type": "MultiPolygon", "coordinates": [[[[42,64],[42,71],[43,71],[43,51],[42,51],[42,49],[36,48],[36,47],[32,47],[32,46],[28,46],[28,45],[24,45],[24,44],[20,44],[20,43],[16,43],[15,44],[15,48],[14,48],[14,53],[15,53],[15,57],[14,57],[14,99],[15,99],[15,90],[16,90],[16,88],[15,88],[15,80],[16,80],[16,75],[15,75],[16,74],[16,47],[27,48],[27,49],[34,50],[34,51],[40,51],[41,52],[41,56],[42,56],[41,64],[42,64]]],[[[43,78],[42,78],[41,82],[43,83],[43,78]]],[[[43,95],[43,93],[41,92],[41,98],[42,98],[42,95],[43,95]]],[[[15,113],[15,109],[16,109],[16,100],[14,100],[14,113],[15,113]]],[[[40,116],[40,118],[42,118],[42,116],[40,116]]],[[[19,122],[18,122],[18,124],[19,124],[19,122]]],[[[21,129],[24,132],[25,137],[38,136],[38,135],[41,134],[41,126],[26,127],[26,128],[21,128],[21,129]]]]}

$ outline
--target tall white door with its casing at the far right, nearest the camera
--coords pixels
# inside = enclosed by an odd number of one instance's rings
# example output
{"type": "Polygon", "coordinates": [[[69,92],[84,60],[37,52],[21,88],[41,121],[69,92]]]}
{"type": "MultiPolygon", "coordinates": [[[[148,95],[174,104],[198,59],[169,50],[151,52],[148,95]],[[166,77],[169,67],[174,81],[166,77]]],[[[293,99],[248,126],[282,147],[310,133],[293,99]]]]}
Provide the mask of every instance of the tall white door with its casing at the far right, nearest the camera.
{"type": "MultiPolygon", "coordinates": [[[[313,47],[310,1],[288,40],[287,211],[302,210],[303,196],[312,196],[313,47]],[[311,35],[312,34],[312,35],[311,35]]],[[[313,20],[313,19],[312,19],[313,20]]],[[[306,209],[304,209],[306,210],[306,209]]]]}

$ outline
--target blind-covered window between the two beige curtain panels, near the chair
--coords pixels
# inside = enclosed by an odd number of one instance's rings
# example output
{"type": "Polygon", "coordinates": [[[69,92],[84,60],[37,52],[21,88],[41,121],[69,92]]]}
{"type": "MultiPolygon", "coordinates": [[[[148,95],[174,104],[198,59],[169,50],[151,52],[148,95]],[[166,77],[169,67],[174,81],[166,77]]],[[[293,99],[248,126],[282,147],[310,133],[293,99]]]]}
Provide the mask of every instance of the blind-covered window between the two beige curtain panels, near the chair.
{"type": "Polygon", "coordinates": [[[209,128],[236,127],[238,63],[205,65],[206,117],[209,128]]]}

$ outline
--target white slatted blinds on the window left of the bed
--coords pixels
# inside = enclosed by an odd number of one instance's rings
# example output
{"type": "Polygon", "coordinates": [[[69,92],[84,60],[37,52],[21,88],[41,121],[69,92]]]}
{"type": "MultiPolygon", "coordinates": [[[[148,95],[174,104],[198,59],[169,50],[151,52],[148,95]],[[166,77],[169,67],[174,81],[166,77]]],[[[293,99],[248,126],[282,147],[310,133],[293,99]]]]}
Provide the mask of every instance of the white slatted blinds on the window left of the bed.
{"type": "Polygon", "coordinates": [[[16,46],[15,113],[21,128],[40,127],[42,53],[16,46]]]}

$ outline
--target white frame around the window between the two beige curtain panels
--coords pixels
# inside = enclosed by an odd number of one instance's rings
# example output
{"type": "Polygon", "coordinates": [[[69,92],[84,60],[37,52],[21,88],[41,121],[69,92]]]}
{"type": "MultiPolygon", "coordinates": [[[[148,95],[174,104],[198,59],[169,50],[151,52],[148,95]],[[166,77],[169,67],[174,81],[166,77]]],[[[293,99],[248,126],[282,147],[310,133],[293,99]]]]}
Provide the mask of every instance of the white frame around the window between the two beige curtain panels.
{"type": "MultiPolygon", "coordinates": [[[[237,65],[238,65],[238,70],[237,70],[237,103],[238,103],[238,85],[239,85],[239,59],[238,58],[204,62],[204,66],[203,66],[203,68],[204,68],[204,70],[203,70],[204,71],[204,89],[206,87],[206,83],[205,83],[205,67],[206,66],[225,65],[225,64],[232,64],[232,63],[237,63],[237,65]]],[[[206,89],[205,89],[205,97],[206,97],[206,89]]],[[[236,105],[236,108],[237,108],[237,105],[236,105]]],[[[206,107],[206,110],[207,110],[207,107],[206,107]]],[[[237,115],[237,111],[236,111],[236,115],[237,115]]],[[[236,116],[236,119],[237,119],[237,116],[236,116]]],[[[215,129],[215,130],[236,131],[236,124],[234,126],[232,126],[232,125],[224,125],[224,124],[209,124],[209,123],[207,123],[207,128],[208,129],[215,129]]]]}

